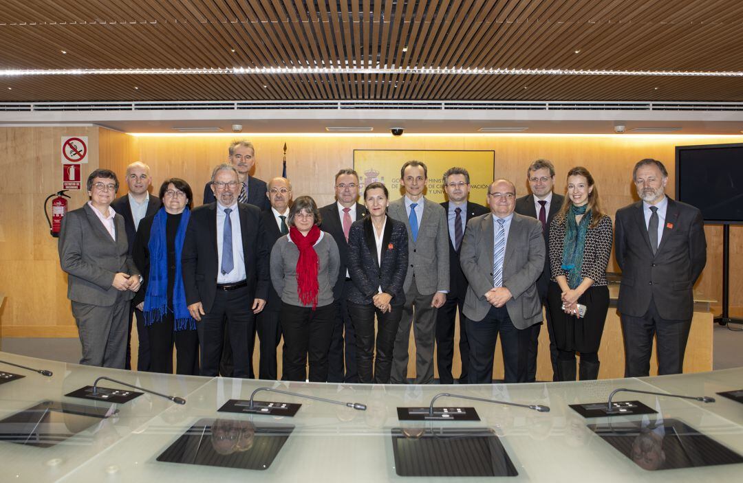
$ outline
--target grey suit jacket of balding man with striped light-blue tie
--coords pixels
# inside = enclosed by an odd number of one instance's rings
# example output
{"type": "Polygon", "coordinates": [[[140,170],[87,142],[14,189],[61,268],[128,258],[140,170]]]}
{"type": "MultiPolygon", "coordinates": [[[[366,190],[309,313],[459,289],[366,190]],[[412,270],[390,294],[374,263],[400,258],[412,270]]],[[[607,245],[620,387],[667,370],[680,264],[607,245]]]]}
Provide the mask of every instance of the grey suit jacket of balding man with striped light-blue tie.
{"type": "MultiPolygon", "coordinates": [[[[493,215],[475,217],[467,223],[459,262],[470,282],[464,298],[464,315],[481,321],[490,310],[485,294],[493,288],[493,215]]],[[[514,213],[510,223],[503,262],[503,285],[513,298],[506,302],[508,316],[516,329],[542,321],[542,302],[536,280],[545,268],[545,241],[542,223],[514,213]]]]}

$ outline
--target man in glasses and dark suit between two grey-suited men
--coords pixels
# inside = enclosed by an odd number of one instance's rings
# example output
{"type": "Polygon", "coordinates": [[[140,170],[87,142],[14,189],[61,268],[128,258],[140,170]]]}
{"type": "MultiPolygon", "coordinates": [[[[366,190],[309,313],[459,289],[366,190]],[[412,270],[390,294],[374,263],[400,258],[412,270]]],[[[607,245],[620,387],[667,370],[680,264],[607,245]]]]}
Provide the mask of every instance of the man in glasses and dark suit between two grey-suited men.
{"type": "Polygon", "coordinates": [[[470,344],[467,342],[466,319],[462,313],[467,295],[467,278],[459,266],[459,250],[470,218],[486,214],[488,209],[467,200],[470,194],[470,173],[464,168],[450,168],[444,173],[444,191],[449,201],[441,203],[447,211],[449,229],[449,293],[436,315],[436,364],[438,381],[454,384],[452,361],[454,359],[454,329],[459,309],[459,358],[461,360],[460,384],[467,384],[467,367],[470,363],[470,344]]]}

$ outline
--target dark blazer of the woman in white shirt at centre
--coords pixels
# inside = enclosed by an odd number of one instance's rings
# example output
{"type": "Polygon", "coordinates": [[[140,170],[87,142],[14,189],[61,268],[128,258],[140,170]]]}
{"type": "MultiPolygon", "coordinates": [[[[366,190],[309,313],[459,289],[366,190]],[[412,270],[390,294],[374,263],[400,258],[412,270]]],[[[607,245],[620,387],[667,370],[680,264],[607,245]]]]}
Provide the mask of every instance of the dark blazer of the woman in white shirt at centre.
{"type": "Polygon", "coordinates": [[[351,225],[348,232],[348,274],[351,288],[346,300],[368,304],[382,292],[392,295],[392,305],[405,303],[403,283],[408,270],[408,229],[405,223],[387,217],[382,234],[382,260],[377,260],[377,242],[371,217],[351,225]]]}

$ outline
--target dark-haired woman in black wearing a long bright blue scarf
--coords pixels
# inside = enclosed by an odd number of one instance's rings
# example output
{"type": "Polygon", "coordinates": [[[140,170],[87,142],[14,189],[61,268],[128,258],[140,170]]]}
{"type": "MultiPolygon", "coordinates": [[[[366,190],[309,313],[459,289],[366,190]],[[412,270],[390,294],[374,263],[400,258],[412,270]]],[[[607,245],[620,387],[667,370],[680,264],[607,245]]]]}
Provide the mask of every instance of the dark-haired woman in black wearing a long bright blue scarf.
{"type": "Polygon", "coordinates": [[[184,180],[171,178],[160,186],[163,207],[145,217],[134,239],[134,263],[144,282],[134,303],[144,312],[149,335],[152,372],[198,375],[196,321],[186,306],[181,252],[191,214],[193,195],[184,180]]]}

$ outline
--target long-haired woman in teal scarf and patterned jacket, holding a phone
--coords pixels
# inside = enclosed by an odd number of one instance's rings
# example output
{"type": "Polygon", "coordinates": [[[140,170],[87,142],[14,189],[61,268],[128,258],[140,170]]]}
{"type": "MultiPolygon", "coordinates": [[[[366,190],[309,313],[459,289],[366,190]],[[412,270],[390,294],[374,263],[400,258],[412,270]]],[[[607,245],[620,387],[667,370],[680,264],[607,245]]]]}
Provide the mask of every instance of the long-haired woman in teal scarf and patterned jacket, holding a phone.
{"type": "Polygon", "coordinates": [[[575,381],[576,352],[580,380],[598,378],[598,352],[609,311],[606,266],[612,240],[611,218],[601,211],[594,178],[583,167],[571,169],[565,203],[549,232],[552,281],[547,299],[560,381],[575,381]]]}

